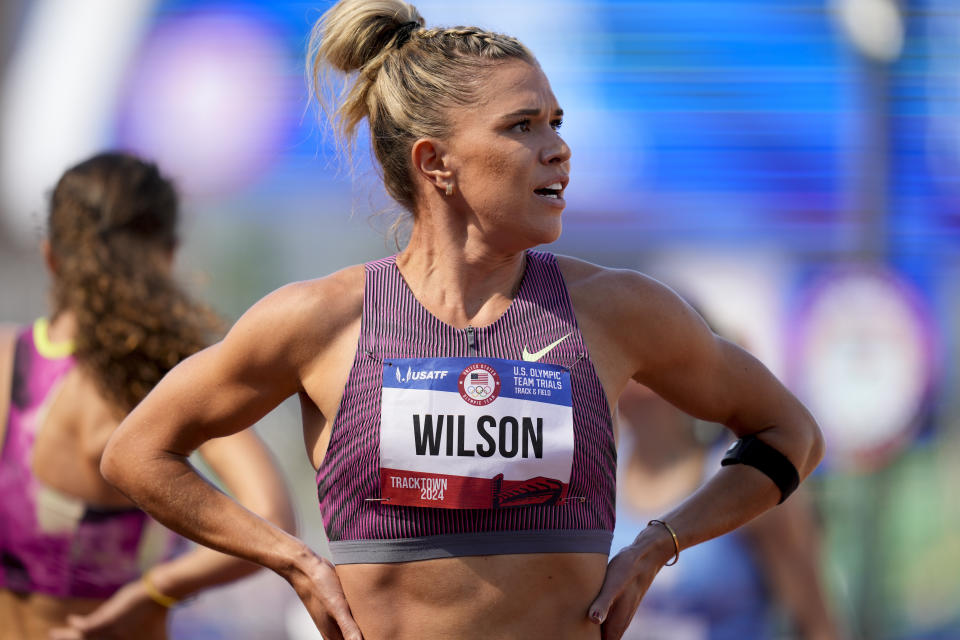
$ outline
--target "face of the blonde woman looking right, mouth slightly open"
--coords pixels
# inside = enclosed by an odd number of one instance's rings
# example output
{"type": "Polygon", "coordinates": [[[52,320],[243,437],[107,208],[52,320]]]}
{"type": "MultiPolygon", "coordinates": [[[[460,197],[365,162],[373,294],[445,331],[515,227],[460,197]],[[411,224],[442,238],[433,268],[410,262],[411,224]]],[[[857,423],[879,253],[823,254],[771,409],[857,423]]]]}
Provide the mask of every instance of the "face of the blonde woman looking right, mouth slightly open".
{"type": "Polygon", "coordinates": [[[570,148],[543,71],[521,60],[500,63],[486,72],[475,104],[448,113],[447,166],[484,237],[510,250],[556,240],[570,148]]]}

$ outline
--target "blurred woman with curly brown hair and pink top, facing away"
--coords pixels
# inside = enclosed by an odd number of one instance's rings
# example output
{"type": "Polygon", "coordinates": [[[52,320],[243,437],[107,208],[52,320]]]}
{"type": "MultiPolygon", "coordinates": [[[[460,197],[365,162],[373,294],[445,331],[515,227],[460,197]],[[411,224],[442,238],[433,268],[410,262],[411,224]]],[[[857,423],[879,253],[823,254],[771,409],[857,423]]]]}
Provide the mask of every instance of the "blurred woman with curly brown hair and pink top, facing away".
{"type": "MultiPolygon", "coordinates": [[[[177,600],[256,568],[204,548],[169,559],[172,535],[99,472],[124,415],[219,325],[174,281],[177,218],[173,185],[127,154],[80,163],[53,191],[51,316],[0,328],[4,640],[165,638],[177,600]]],[[[293,529],[281,475],[252,431],[201,454],[238,501],[293,529]]]]}

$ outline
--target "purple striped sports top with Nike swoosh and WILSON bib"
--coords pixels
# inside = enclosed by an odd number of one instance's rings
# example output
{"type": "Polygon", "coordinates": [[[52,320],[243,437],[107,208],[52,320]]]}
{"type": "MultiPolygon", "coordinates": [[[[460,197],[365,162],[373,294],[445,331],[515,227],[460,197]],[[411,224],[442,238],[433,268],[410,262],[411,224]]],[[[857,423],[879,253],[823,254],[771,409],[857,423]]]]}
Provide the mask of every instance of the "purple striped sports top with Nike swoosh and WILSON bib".
{"type": "Polygon", "coordinates": [[[364,287],[317,472],[334,562],[609,553],[612,420],[556,258],[528,251],[486,327],[438,320],[395,256],[366,264],[364,287]]]}

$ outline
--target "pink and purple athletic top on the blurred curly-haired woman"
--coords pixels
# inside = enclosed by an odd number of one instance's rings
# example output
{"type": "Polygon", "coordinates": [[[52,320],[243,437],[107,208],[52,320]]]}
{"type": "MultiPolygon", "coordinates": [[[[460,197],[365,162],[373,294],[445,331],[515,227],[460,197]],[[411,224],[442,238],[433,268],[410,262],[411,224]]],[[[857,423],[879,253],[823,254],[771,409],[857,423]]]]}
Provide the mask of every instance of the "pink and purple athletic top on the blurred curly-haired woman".
{"type": "MultiPolygon", "coordinates": [[[[0,445],[0,588],[106,598],[140,576],[147,516],[86,505],[46,487],[31,470],[46,410],[75,366],[71,347],[48,341],[45,320],[17,337],[0,445]]],[[[169,538],[160,544],[169,545],[169,538]]]]}

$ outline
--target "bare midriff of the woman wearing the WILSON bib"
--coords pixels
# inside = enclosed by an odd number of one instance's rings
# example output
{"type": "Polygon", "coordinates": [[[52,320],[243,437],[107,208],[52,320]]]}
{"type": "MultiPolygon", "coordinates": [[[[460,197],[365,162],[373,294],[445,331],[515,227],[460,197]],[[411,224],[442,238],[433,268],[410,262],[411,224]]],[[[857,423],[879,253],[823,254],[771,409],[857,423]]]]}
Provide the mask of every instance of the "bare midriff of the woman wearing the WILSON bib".
{"type": "Polygon", "coordinates": [[[364,640],[599,640],[607,557],[537,553],[339,565],[364,640]]]}

